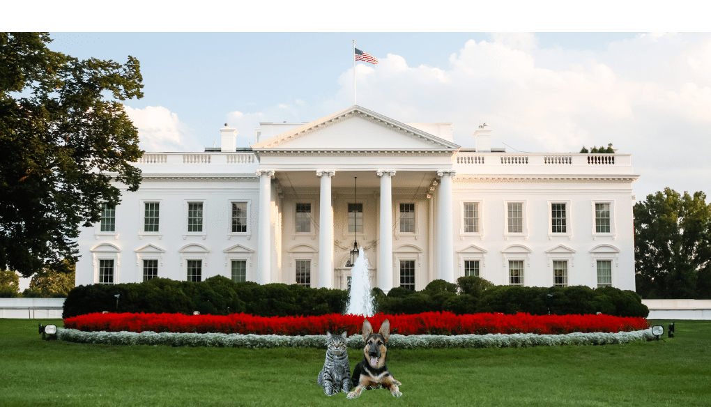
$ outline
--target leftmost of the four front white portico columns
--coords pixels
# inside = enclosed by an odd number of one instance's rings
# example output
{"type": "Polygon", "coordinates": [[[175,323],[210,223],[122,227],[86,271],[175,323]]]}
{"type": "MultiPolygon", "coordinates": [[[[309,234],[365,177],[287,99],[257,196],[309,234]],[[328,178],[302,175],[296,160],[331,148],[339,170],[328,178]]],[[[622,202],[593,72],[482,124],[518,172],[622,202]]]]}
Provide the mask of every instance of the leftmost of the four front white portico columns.
{"type": "Polygon", "coordinates": [[[260,226],[257,240],[257,283],[271,283],[272,274],[272,170],[257,170],[260,177],[260,226]]]}

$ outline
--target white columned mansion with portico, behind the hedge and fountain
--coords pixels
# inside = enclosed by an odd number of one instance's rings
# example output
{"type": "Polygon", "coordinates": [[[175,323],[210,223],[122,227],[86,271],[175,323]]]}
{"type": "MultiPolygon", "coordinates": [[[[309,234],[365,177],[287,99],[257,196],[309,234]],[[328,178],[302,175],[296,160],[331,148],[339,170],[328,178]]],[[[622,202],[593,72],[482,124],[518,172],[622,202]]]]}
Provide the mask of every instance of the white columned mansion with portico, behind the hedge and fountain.
{"type": "Polygon", "coordinates": [[[346,288],[357,241],[385,292],[469,275],[634,290],[629,155],[506,153],[488,126],[462,148],[451,123],[359,106],[260,126],[251,148],[225,125],[221,148],[145,153],[139,190],[82,229],[77,285],[222,275],[346,288]]]}

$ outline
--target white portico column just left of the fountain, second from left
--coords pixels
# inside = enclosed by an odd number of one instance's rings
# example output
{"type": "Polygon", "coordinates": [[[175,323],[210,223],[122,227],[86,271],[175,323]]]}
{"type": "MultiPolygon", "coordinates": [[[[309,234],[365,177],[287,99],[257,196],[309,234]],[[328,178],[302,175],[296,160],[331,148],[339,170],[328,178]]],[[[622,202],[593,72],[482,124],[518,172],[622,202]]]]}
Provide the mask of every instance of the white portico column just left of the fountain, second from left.
{"type": "Polygon", "coordinates": [[[321,177],[319,210],[319,288],[333,288],[333,207],[331,177],[336,171],[316,171],[321,177]]]}

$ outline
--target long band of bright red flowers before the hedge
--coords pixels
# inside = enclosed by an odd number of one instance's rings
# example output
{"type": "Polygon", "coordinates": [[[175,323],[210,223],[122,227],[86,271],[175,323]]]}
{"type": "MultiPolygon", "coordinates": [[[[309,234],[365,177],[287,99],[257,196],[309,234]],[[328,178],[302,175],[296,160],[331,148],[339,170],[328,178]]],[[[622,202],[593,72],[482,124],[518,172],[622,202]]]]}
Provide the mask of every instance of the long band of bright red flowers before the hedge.
{"type": "MultiPolygon", "coordinates": [[[[247,314],[103,314],[77,315],[64,326],[82,331],[131,332],[222,332],[258,335],[324,335],[361,332],[363,316],[328,314],[312,317],[255,317],[247,314]]],[[[422,313],[415,315],[376,314],[369,317],[375,329],[390,320],[390,332],[400,335],[463,335],[534,333],[560,335],[570,332],[619,332],[643,330],[644,318],[610,315],[530,315],[422,313]]]]}

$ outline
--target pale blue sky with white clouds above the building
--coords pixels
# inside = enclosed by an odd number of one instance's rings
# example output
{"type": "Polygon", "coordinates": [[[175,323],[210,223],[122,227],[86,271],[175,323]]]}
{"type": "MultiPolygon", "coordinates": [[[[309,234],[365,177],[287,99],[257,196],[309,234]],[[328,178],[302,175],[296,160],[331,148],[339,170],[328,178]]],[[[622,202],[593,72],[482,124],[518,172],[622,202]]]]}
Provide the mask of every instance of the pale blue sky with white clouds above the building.
{"type": "Polygon", "coordinates": [[[402,122],[486,122],[509,152],[631,153],[637,200],[711,192],[710,33],[52,33],[77,58],[138,58],[124,102],[146,151],[255,143],[260,121],[308,122],[357,104],[402,122]]]}

